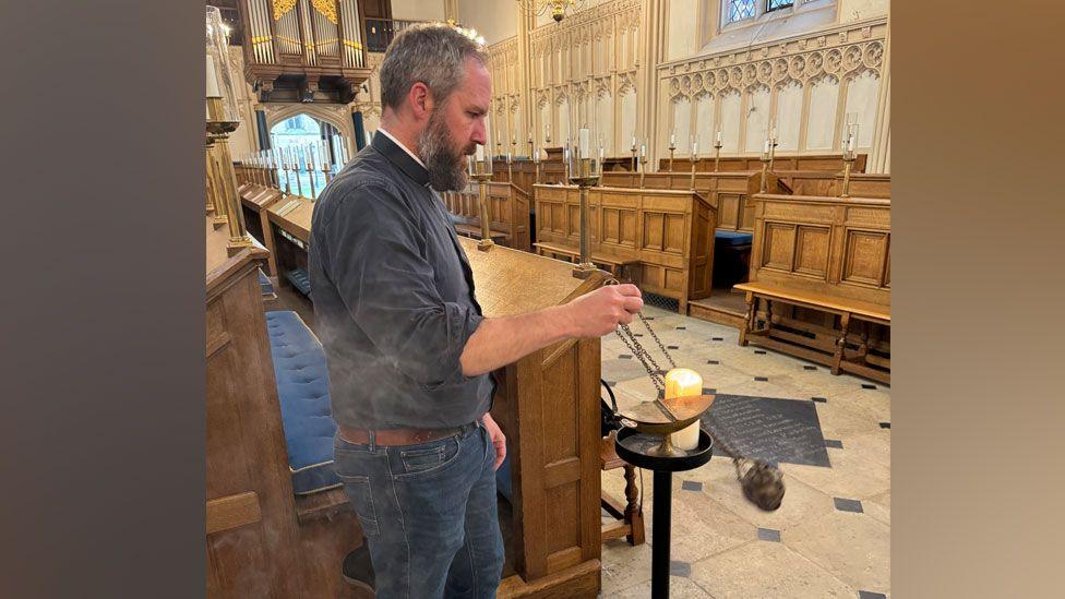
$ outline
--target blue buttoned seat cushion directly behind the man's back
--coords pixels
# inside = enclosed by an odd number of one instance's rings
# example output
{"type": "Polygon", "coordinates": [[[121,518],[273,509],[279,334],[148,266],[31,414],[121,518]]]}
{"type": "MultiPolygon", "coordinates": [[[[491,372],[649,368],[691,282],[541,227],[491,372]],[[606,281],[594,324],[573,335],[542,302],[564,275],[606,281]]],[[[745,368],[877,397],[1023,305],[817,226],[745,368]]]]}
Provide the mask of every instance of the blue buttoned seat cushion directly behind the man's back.
{"type": "Polygon", "coordinates": [[[333,470],[333,421],[325,351],[296,312],[266,312],[292,490],[306,495],[339,487],[333,470]]]}

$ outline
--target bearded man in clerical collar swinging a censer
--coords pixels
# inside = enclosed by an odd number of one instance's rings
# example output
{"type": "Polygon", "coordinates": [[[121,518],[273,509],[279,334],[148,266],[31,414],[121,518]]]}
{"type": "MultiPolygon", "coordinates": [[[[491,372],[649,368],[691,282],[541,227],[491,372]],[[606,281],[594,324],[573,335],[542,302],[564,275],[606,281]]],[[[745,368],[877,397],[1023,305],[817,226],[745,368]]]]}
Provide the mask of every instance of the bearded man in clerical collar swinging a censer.
{"type": "Polygon", "coordinates": [[[487,140],[483,47],[436,24],[404,31],[381,65],[381,128],[319,199],[315,320],[328,357],[335,468],[366,534],[378,597],[494,597],[503,566],[488,414],[493,370],[643,307],[609,286],[541,312],[486,319],[438,192],[466,184],[487,140]]]}

